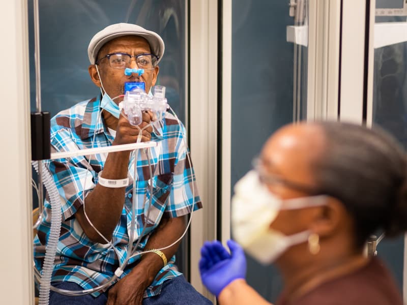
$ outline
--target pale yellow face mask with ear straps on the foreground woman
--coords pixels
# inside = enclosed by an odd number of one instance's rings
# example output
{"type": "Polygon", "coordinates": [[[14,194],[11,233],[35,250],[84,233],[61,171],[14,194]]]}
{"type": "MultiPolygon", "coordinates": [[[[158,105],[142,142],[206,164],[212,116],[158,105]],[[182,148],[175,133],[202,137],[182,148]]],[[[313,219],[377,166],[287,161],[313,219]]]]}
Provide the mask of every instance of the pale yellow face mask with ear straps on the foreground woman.
{"type": "Polygon", "coordinates": [[[310,231],[286,236],[270,228],[281,209],[324,205],[325,195],[281,199],[261,184],[256,171],[249,171],[235,185],[231,202],[231,227],[234,239],[263,264],[270,264],[288,248],[308,240],[310,231]]]}

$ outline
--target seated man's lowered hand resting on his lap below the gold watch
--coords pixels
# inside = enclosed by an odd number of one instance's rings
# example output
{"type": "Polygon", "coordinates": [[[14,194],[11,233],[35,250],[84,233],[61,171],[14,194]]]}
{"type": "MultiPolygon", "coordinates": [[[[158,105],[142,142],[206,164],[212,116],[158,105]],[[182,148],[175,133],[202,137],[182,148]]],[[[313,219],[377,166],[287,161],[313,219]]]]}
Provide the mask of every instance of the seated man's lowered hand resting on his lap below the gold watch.
{"type": "Polygon", "coordinates": [[[150,284],[146,275],[136,266],[109,290],[106,305],[141,305],[144,291],[150,284]]]}

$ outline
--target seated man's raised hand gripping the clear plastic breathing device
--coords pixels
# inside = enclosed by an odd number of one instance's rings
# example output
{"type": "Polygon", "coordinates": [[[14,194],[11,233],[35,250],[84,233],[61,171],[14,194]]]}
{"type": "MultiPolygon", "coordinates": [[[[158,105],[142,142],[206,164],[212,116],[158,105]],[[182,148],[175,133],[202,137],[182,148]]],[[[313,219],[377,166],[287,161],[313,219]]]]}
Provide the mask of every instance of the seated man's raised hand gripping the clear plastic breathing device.
{"type": "MultiPolygon", "coordinates": [[[[150,110],[143,111],[142,116],[143,121],[140,125],[138,125],[140,130],[148,126],[153,120],[153,113],[150,110]]],[[[135,143],[140,133],[139,129],[136,126],[131,125],[128,119],[120,114],[118,126],[116,129],[116,137],[114,138],[113,145],[135,143]]],[[[152,132],[152,126],[149,126],[146,129],[142,130],[141,142],[150,141],[152,132]]]]}

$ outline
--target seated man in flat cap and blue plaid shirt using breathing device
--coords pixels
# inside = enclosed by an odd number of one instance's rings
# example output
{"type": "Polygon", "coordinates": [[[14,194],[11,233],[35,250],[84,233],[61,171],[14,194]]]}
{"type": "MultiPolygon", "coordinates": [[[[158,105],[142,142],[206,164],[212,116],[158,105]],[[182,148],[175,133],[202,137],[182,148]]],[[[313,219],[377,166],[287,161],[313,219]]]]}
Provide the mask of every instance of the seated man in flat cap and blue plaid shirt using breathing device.
{"type": "MultiPolygon", "coordinates": [[[[89,74],[101,88],[102,96],[78,103],[51,120],[53,151],[137,140],[155,141],[157,147],[136,154],[119,151],[47,162],[63,200],[52,285],[75,291],[93,289],[92,294],[80,296],[51,291],[50,304],[211,303],[175,265],[174,254],[179,246],[179,241],[175,241],[186,230],[186,217],[202,207],[188,158],[185,128],[169,113],[153,125],[155,117],[151,111],[142,113],[138,127],[132,126],[118,107],[125,86],[143,86],[150,93],[163,53],[164,43],[154,32],[128,23],[107,26],[88,47],[89,74]],[[119,183],[125,186],[111,187],[119,183]],[[138,204],[133,216],[134,199],[138,204]],[[134,234],[129,241],[133,217],[134,234]],[[94,291],[107,283],[130,256],[129,242],[137,246],[136,254],[153,252],[131,256],[122,268],[123,274],[116,273],[119,280],[114,285],[94,291]]],[[[34,240],[38,270],[45,256],[50,214],[46,201],[34,240]]]]}

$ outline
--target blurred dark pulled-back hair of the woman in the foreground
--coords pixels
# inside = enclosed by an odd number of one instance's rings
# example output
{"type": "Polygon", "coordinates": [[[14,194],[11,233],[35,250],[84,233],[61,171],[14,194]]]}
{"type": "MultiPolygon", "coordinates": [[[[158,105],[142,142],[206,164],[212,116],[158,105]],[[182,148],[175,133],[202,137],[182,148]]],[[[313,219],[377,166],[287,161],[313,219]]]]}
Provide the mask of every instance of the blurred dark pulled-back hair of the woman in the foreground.
{"type": "Polygon", "coordinates": [[[325,149],[314,164],[320,192],[339,199],[354,218],[357,246],[383,228],[387,236],[407,229],[407,160],[383,130],[319,122],[325,149]]]}

